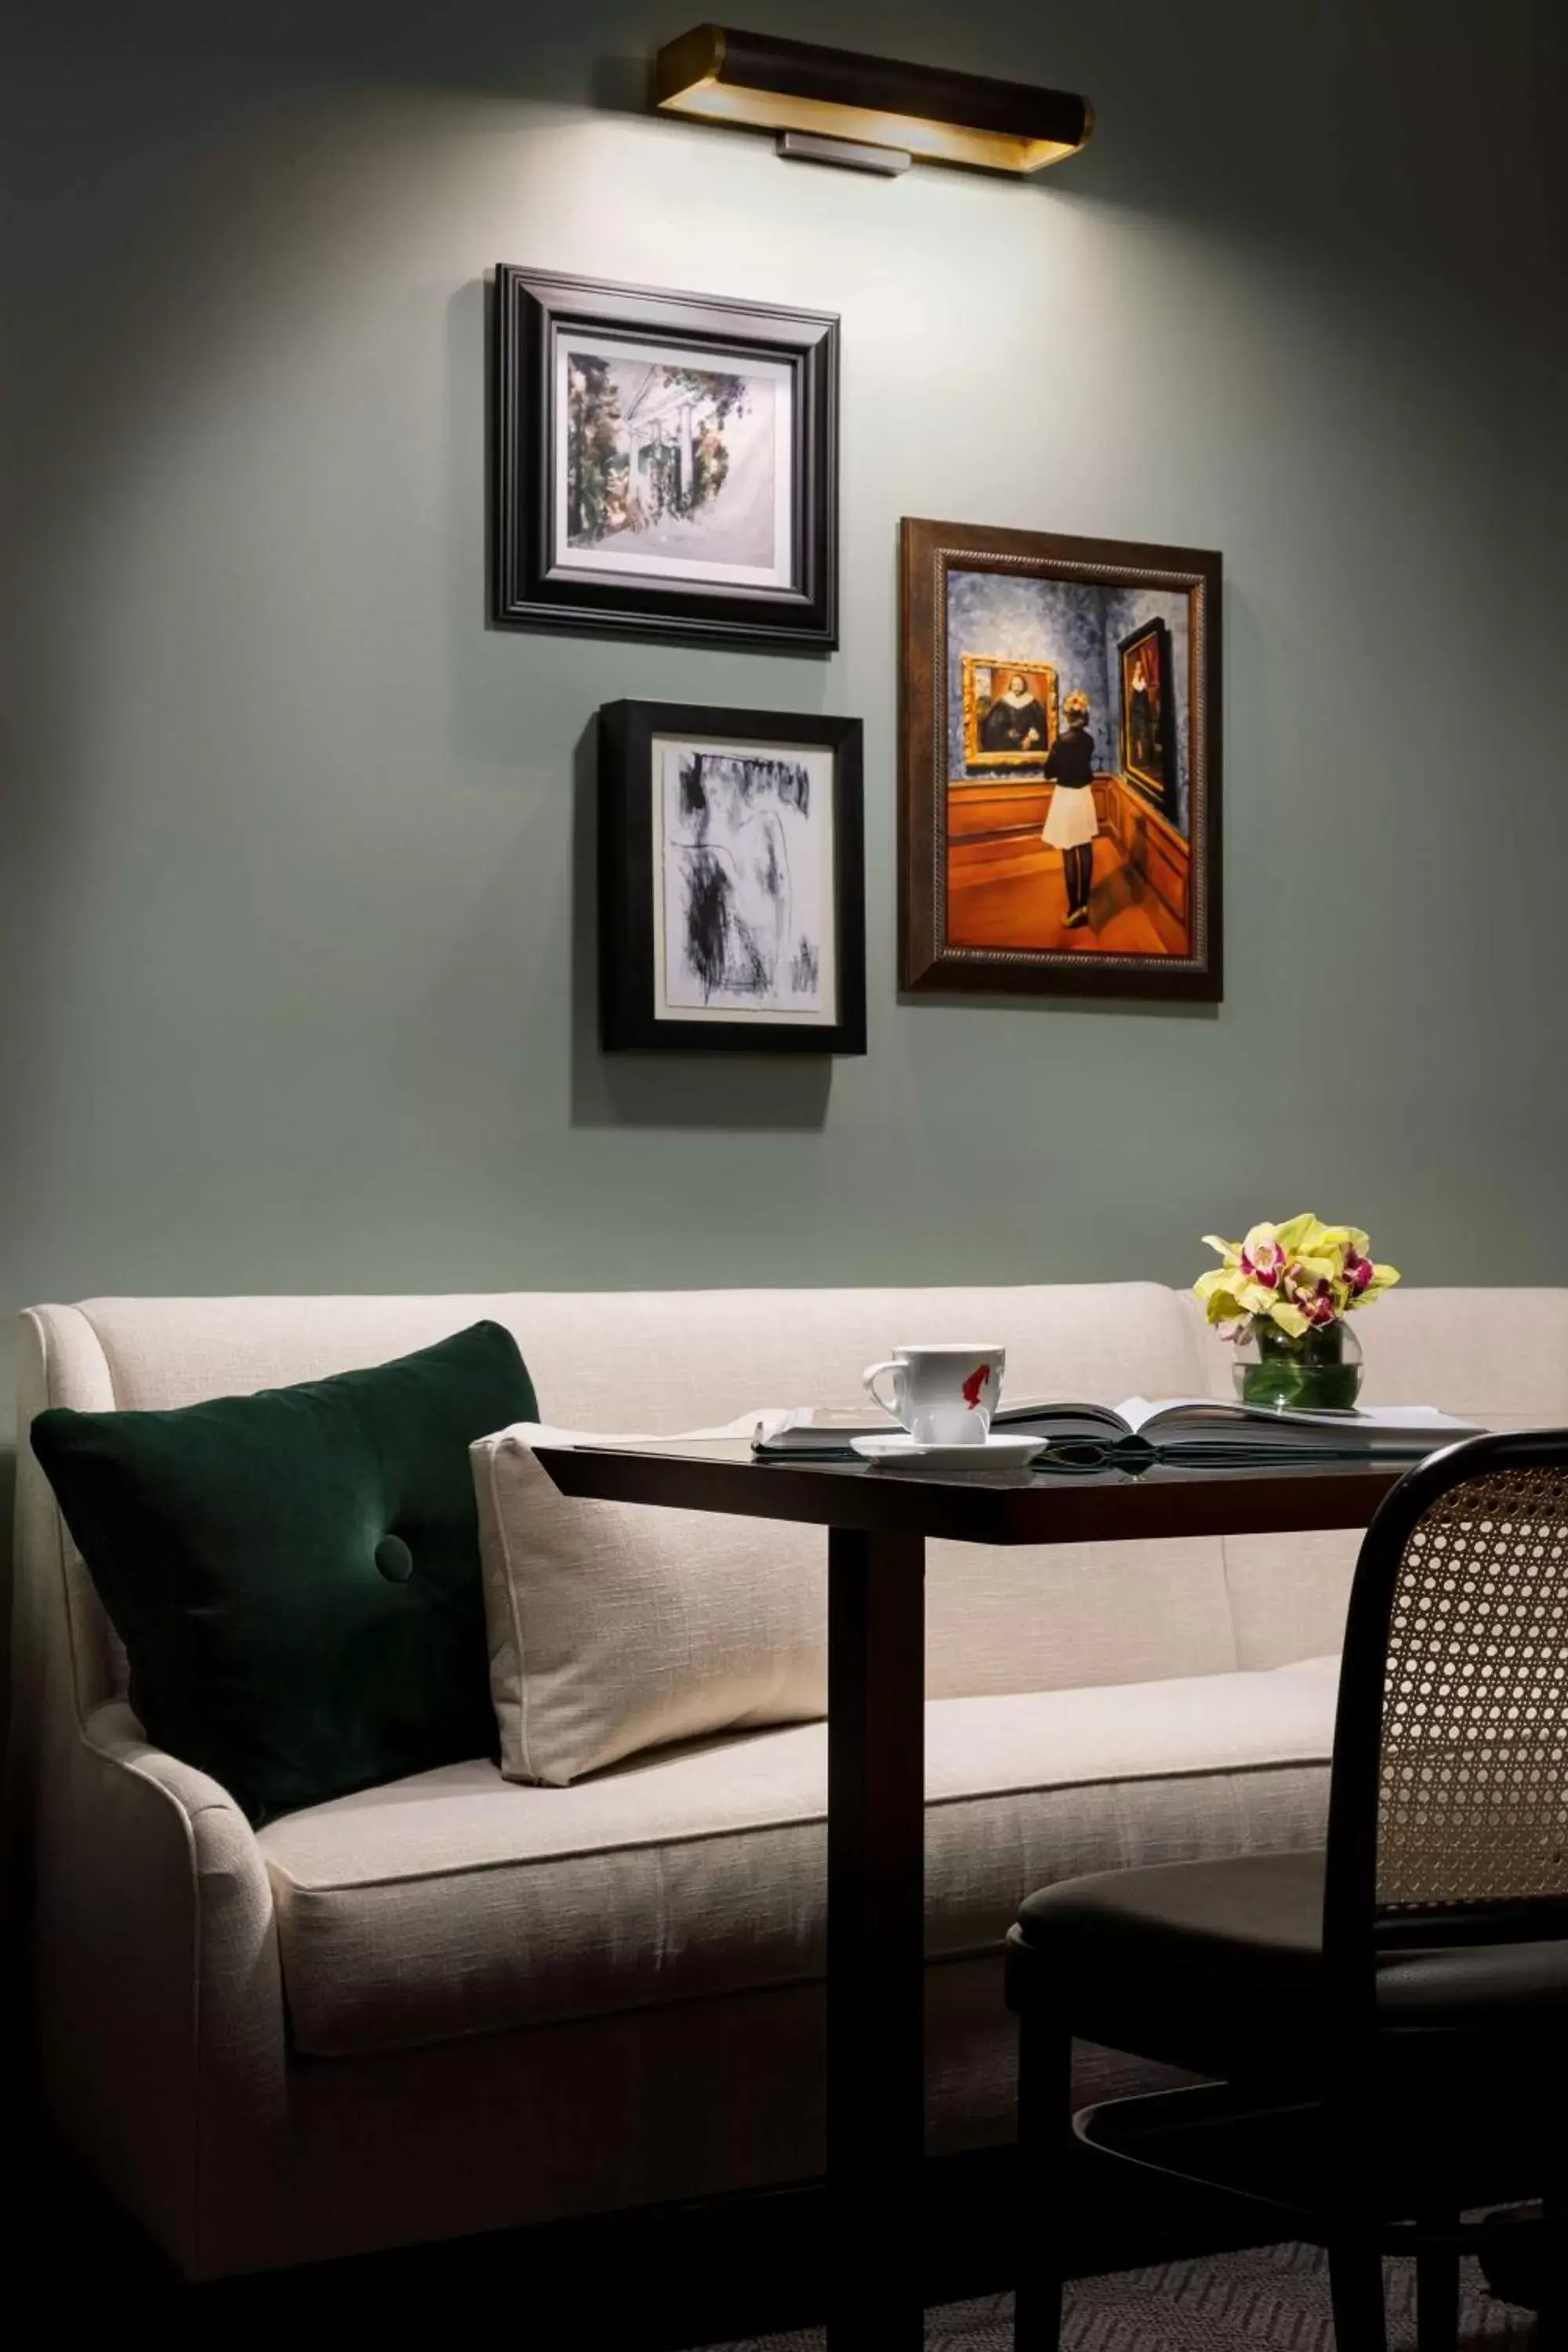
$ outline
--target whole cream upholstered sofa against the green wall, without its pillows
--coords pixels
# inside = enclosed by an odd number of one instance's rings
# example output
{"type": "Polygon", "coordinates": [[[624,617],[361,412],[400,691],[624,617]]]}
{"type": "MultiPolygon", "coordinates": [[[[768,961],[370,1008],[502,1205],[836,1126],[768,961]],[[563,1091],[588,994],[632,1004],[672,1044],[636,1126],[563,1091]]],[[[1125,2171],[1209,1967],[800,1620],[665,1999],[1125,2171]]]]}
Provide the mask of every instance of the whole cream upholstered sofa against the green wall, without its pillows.
{"type": "MultiPolygon", "coordinates": [[[[1152,1284],[496,1298],[101,1298],[21,1327],[14,1795],[47,2098],[190,2277],[811,2176],[820,1724],[567,1790],[487,1762],[259,1835],[155,1752],[26,1451],[45,1404],[167,1406],[482,1315],[576,1428],[849,1402],[910,1338],[1001,1338],[1027,1395],[1225,1392],[1152,1284]]],[[[1399,1291],[1368,1395],[1568,1421],[1568,1291],[1399,1291]]],[[[929,1562],[929,2145],[1011,2133],[999,1940],[1086,1867],[1324,1825],[1354,1536],[929,1562]]]]}

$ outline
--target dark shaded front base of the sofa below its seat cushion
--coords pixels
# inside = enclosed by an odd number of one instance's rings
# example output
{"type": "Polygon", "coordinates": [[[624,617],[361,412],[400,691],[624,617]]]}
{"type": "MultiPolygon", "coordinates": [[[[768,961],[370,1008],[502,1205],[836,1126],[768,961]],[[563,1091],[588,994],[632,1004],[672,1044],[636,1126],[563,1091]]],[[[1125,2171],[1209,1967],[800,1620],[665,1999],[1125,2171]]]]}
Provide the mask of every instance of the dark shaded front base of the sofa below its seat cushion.
{"type": "MultiPolygon", "coordinates": [[[[809,2180],[823,2169],[823,2042],[813,1983],[301,2060],[287,2260],[809,2180]]],[[[929,2152],[1004,2145],[1016,2074],[1001,1959],[929,1969],[929,2152]]],[[[1166,2079],[1079,2053],[1084,2100],[1166,2079]]]]}

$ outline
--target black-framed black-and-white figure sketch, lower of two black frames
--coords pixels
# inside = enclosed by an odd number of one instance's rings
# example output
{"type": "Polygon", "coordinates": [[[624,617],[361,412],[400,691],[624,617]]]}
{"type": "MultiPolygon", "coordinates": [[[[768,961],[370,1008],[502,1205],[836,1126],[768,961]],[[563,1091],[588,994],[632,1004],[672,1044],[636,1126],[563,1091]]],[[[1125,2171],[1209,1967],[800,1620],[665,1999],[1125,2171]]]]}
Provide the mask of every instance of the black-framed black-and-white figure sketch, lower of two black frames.
{"type": "Polygon", "coordinates": [[[599,713],[609,1051],[865,1054],[860,720],[599,713]]]}

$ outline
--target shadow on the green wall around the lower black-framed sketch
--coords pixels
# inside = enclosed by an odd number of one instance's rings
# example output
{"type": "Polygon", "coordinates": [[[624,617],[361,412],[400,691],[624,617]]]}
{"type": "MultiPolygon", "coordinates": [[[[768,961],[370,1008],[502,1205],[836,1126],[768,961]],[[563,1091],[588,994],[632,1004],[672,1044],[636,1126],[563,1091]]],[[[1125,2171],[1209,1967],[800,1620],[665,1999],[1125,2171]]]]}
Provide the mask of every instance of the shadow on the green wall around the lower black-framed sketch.
{"type": "Polygon", "coordinates": [[[820,1129],[827,1054],[607,1054],[599,1047],[599,722],[571,760],[571,1124],[820,1129]]]}

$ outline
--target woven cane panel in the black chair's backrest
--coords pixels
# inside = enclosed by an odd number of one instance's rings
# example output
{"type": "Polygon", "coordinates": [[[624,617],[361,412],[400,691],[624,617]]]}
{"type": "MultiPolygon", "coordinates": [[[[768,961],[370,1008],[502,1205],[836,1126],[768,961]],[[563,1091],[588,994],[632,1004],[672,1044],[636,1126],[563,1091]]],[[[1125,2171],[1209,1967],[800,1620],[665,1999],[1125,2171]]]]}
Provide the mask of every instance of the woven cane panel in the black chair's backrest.
{"type": "Polygon", "coordinates": [[[1378,1799],[1382,1907],[1568,1893],[1568,1472],[1467,1479],[1415,1526],[1378,1799]]]}

